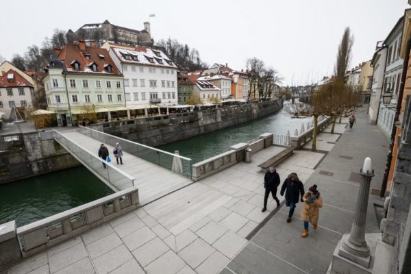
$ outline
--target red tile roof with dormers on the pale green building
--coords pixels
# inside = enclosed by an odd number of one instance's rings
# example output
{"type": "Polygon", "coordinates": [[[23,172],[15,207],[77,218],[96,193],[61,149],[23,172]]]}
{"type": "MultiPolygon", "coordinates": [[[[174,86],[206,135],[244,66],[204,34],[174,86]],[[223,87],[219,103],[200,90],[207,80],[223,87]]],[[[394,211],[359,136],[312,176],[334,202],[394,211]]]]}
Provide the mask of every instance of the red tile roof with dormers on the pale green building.
{"type": "Polygon", "coordinates": [[[117,70],[108,51],[106,49],[101,49],[99,47],[88,47],[85,46],[85,51],[80,50],[79,44],[66,44],[58,54],[58,59],[64,61],[66,70],[69,72],[79,72],[79,73],[104,73],[107,75],[121,75],[117,70]],[[86,59],[86,54],[90,55],[90,59],[86,59]],[[104,56],[103,60],[101,56],[104,56]],[[79,70],[75,71],[73,66],[74,62],[79,63],[79,70]],[[97,64],[97,71],[92,71],[92,63],[97,64]],[[105,69],[106,66],[112,66],[112,73],[108,73],[105,69]]]}

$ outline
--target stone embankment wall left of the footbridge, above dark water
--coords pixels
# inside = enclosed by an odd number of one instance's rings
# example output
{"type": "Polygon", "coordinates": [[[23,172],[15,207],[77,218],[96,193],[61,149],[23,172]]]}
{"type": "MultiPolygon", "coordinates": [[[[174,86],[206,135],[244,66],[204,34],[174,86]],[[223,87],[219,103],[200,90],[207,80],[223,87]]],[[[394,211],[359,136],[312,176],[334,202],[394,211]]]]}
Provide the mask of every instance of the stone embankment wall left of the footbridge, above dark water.
{"type": "Polygon", "coordinates": [[[0,136],[0,184],[78,165],[51,132],[0,136]]]}

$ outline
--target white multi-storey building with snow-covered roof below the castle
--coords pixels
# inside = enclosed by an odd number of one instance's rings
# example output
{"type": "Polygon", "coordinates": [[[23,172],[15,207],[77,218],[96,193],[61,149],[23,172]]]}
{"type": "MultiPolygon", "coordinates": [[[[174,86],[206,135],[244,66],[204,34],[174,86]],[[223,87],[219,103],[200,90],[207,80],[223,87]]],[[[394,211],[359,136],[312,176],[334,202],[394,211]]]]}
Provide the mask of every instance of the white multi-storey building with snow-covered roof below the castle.
{"type": "Polygon", "coordinates": [[[127,107],[178,104],[177,66],[162,51],[112,46],[109,54],[124,75],[127,107]]]}

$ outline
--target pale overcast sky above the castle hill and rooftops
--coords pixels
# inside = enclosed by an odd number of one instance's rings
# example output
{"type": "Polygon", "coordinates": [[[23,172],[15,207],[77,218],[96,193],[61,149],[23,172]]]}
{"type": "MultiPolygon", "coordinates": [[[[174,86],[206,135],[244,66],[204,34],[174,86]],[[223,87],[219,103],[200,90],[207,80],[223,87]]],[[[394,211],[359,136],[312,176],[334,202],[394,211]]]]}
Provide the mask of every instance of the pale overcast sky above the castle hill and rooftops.
{"type": "Polygon", "coordinates": [[[284,84],[316,82],[333,71],[345,27],[355,42],[351,66],[370,60],[377,40],[410,7],[407,0],[150,0],[22,1],[2,3],[0,55],[7,60],[41,45],[53,29],[102,23],[143,29],[155,40],[176,38],[199,50],[208,64],[245,67],[257,57],[285,78],[284,84]],[[149,14],[155,17],[149,18],[149,14]]]}

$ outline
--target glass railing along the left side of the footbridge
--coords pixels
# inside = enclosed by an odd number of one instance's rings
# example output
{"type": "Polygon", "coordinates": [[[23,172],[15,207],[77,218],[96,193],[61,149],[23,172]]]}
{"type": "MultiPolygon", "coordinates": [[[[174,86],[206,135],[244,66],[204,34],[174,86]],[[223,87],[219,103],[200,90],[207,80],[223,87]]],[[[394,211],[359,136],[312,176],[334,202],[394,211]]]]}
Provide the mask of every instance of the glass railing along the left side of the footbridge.
{"type": "Polygon", "coordinates": [[[53,129],[53,138],[62,145],[64,149],[72,153],[77,160],[82,162],[86,168],[94,171],[101,179],[108,182],[115,191],[134,186],[134,177],[117,169],[112,164],[105,162],[105,160],[97,157],[97,155],[91,153],[84,147],[77,145],[55,129],[53,129]]]}

